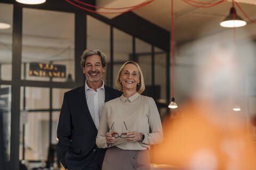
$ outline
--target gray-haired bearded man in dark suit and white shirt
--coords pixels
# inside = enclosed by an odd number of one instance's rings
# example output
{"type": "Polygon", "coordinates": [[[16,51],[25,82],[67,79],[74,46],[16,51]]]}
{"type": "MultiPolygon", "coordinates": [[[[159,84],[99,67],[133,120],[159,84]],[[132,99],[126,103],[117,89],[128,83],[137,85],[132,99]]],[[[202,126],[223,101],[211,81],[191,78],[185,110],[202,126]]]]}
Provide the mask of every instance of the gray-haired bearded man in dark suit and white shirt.
{"type": "Polygon", "coordinates": [[[104,85],[106,56],[100,50],[85,50],[81,56],[85,84],[64,94],[57,137],[58,158],[69,170],[100,170],[105,149],[95,144],[102,106],[122,92],[104,85]]]}

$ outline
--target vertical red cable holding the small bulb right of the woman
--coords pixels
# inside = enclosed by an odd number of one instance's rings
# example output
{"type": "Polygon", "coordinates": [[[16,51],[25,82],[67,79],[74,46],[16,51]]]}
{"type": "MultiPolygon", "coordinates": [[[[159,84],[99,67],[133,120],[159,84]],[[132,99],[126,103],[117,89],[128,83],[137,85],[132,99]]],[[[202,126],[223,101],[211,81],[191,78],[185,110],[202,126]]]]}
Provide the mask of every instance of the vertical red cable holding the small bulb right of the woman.
{"type": "Polygon", "coordinates": [[[171,32],[171,58],[172,58],[172,97],[174,98],[174,51],[173,51],[173,0],[171,7],[171,16],[172,16],[172,32],[171,32]]]}

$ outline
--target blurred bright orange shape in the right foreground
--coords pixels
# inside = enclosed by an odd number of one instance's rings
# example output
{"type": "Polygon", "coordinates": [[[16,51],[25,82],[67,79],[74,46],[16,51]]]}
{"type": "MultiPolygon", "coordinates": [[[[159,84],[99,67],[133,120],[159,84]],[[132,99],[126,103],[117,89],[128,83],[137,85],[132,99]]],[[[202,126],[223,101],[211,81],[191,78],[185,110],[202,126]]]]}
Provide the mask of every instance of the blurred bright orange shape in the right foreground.
{"type": "Polygon", "coordinates": [[[193,102],[180,113],[163,124],[154,163],[191,170],[256,169],[256,146],[241,117],[193,102]]]}

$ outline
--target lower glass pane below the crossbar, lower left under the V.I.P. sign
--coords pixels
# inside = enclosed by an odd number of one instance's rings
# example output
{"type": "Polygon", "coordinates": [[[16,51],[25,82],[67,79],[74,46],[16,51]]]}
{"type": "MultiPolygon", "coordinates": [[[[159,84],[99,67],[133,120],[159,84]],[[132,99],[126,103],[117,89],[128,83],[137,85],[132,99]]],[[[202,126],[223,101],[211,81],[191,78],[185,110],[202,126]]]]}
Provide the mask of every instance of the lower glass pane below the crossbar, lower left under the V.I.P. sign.
{"type": "Polygon", "coordinates": [[[45,161],[49,149],[49,112],[21,112],[20,116],[20,159],[25,154],[24,160],[45,161]]]}

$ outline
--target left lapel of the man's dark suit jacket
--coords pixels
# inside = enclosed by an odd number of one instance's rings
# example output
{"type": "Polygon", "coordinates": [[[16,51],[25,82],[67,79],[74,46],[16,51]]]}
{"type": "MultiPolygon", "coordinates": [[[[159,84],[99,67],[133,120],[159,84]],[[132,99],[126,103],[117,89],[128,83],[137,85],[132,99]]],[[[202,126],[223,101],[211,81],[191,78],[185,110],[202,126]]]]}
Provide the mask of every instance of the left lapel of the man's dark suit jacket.
{"type": "Polygon", "coordinates": [[[89,108],[87,106],[87,101],[86,101],[86,97],[85,97],[85,87],[84,85],[78,90],[78,98],[79,101],[81,102],[81,106],[83,107],[83,110],[85,112],[85,115],[87,116],[87,118],[90,120],[90,122],[92,123],[94,130],[97,132],[97,128],[92,120],[92,116],[91,113],[89,111],[89,108]]]}

